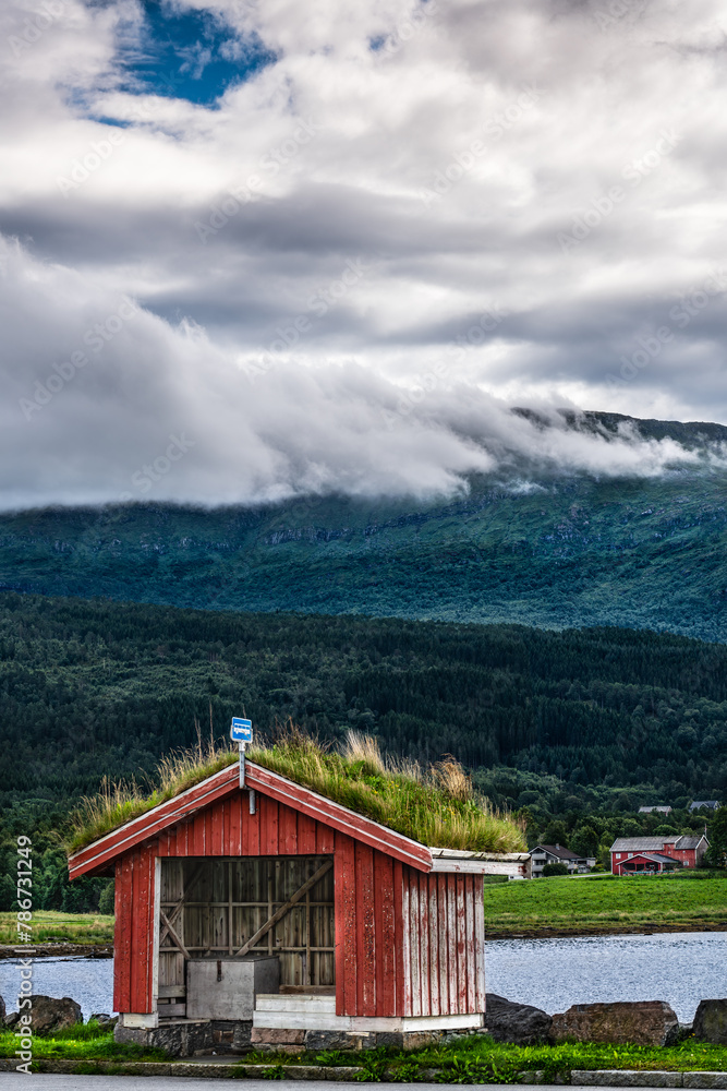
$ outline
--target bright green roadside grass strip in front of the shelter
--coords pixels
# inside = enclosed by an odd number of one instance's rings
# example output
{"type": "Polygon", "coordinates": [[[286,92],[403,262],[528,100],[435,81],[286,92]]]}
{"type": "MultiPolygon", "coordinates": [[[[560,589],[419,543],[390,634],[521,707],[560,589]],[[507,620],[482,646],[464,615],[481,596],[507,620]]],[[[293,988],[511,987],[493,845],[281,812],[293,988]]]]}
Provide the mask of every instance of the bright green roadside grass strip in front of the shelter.
{"type": "MultiPolygon", "coordinates": [[[[0,1056],[13,1057],[15,1038],[10,1031],[0,1032],[0,1056]]],[[[71,1027],[49,1038],[36,1038],[33,1043],[36,1060],[66,1059],[93,1063],[169,1062],[162,1050],[137,1045],[120,1045],[111,1031],[96,1023],[71,1027]]],[[[182,1063],[185,1058],[179,1058],[182,1063]]],[[[727,1047],[687,1040],[677,1046],[663,1048],[599,1043],[566,1043],[562,1045],[516,1046],[497,1044],[486,1036],[470,1036],[448,1045],[422,1050],[371,1050],[362,1053],[327,1051],[296,1055],[249,1053],[243,1058],[230,1057],[241,1064],[274,1066],[275,1075],[284,1078],[284,1069],[294,1065],[326,1067],[359,1066],[356,1079],[416,1083],[507,1083],[514,1082],[521,1071],[540,1070],[546,1078],[569,1076],[573,1069],[632,1068],[668,1069],[670,1071],[727,1070],[727,1047]],[[434,1069],[434,1071],[433,1071],[434,1069]]]]}

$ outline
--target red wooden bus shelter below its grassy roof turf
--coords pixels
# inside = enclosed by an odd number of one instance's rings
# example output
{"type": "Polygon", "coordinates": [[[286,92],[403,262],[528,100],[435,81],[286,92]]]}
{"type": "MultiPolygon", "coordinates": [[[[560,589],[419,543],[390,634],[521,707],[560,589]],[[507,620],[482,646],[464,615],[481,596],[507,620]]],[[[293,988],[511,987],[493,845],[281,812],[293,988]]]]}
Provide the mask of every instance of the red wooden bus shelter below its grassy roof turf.
{"type": "Polygon", "coordinates": [[[247,762],[69,867],[116,877],[117,1036],[189,1055],[481,1028],[483,877],[530,858],[429,848],[247,762]]]}

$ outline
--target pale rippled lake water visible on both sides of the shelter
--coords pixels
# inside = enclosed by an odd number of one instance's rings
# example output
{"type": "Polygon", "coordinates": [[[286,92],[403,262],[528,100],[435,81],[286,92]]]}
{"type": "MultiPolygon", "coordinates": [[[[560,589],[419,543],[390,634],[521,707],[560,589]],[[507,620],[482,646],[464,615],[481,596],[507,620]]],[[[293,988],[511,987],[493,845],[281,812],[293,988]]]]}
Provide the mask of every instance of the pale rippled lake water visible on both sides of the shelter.
{"type": "MultiPolygon", "coordinates": [[[[727,933],[583,936],[577,939],[489,939],[487,992],[565,1011],[596,1000],[667,1000],[691,1022],[701,999],[727,996],[727,933]]],[[[17,1008],[16,959],[0,960],[0,994],[17,1008]]],[[[43,958],[34,963],[35,993],[72,996],[83,1009],[111,1011],[112,959],[43,958]]]]}

